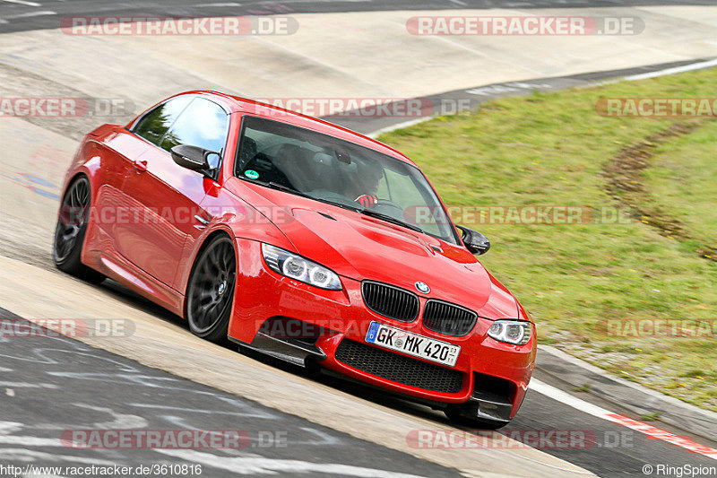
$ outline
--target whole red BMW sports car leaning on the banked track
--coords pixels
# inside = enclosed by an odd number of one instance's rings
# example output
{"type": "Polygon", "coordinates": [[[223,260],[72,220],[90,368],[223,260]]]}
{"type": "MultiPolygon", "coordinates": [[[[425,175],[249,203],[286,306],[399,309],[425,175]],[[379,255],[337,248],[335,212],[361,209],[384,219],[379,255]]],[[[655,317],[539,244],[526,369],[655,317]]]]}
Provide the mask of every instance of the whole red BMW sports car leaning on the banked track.
{"type": "Polygon", "coordinates": [[[531,317],[415,164],[340,126],[191,91],[86,135],[57,267],[110,277],[191,331],[497,428],[535,362],[531,317]]]}

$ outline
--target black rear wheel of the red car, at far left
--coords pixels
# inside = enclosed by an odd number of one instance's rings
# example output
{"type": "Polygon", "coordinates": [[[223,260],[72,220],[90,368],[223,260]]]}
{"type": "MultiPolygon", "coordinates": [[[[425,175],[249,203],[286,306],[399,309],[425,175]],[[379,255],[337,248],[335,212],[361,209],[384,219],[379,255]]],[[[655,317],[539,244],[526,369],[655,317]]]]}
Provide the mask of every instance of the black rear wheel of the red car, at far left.
{"type": "Polygon", "coordinates": [[[56,267],[62,272],[98,284],[105,280],[105,276],[83,265],[80,259],[87,223],[90,221],[90,205],[90,180],[81,176],[67,187],[60,205],[55,239],[52,244],[52,258],[56,267]]]}

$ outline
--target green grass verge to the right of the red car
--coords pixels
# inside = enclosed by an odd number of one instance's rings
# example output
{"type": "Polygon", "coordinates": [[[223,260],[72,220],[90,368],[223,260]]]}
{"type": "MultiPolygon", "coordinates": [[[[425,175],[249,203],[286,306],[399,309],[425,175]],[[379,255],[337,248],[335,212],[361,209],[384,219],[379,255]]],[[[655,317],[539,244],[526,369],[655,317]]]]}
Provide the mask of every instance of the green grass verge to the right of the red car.
{"type": "MultiPolygon", "coordinates": [[[[611,97],[711,98],[714,84],[717,69],[540,92],[497,100],[476,112],[436,117],[379,139],[415,161],[445,204],[610,208],[618,204],[606,192],[605,165],[622,147],[675,120],[601,117],[596,102],[611,97]]],[[[692,134],[662,144],[654,168],[645,169],[644,177],[647,187],[661,196],[659,204],[674,207],[676,219],[694,230],[695,237],[713,241],[717,182],[710,160],[717,151],[717,124],[703,123],[692,134]]],[[[485,233],[493,244],[480,261],[531,312],[540,343],[717,410],[714,335],[616,337],[600,326],[609,318],[716,318],[717,264],[697,256],[695,244],[663,237],[635,220],[475,222],[466,225],[485,233]],[[688,370],[695,373],[684,375],[688,370]]]]}

